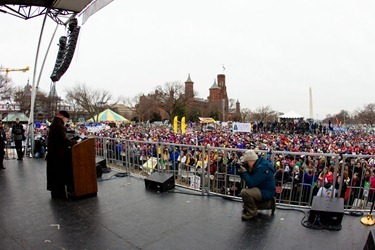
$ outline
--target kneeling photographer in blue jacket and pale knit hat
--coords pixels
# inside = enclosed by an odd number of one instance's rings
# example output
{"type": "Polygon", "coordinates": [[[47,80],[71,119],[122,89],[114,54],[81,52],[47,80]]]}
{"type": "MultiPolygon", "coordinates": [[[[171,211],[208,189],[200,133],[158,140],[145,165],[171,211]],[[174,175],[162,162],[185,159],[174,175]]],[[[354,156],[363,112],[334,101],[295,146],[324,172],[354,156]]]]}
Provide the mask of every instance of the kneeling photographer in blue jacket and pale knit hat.
{"type": "Polygon", "coordinates": [[[247,186],[240,193],[244,202],[242,220],[250,220],[257,216],[257,205],[261,203],[268,202],[273,212],[276,192],[273,165],[263,157],[258,158],[253,150],[247,150],[237,167],[247,186]]]}

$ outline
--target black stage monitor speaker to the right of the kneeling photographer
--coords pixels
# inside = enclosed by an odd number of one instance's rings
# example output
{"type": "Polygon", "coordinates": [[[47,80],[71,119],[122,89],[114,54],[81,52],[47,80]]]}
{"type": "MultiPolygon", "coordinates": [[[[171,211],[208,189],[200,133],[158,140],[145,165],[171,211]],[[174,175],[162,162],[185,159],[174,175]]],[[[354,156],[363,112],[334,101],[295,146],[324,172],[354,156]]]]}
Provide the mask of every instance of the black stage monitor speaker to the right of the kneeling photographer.
{"type": "Polygon", "coordinates": [[[310,224],[338,227],[344,217],[344,199],[314,196],[309,213],[310,224]]]}

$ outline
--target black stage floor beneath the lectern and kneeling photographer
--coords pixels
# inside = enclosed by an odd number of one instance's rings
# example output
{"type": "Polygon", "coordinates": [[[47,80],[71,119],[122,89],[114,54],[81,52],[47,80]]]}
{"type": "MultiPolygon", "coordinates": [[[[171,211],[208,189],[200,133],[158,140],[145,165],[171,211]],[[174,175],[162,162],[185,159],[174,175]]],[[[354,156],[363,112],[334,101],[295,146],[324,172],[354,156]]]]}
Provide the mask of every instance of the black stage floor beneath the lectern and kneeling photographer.
{"type": "MultiPolygon", "coordinates": [[[[345,215],[340,231],[301,225],[303,213],[261,211],[241,221],[242,203],[155,193],[137,177],[98,179],[96,197],[51,200],[45,161],[5,160],[0,171],[0,249],[363,249],[371,227],[345,215]]],[[[174,191],[185,192],[175,188],[174,191]]]]}

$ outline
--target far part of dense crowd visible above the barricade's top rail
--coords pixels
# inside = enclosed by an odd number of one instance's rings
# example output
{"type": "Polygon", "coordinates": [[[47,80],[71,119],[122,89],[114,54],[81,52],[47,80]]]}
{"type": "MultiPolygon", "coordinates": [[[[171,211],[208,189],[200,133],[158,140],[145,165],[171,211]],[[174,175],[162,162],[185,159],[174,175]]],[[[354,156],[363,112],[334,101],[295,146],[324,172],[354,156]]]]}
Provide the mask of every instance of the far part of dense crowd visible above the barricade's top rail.
{"type": "Polygon", "coordinates": [[[172,125],[128,124],[106,130],[88,132],[78,126],[76,132],[86,136],[100,136],[135,141],[199,145],[223,148],[258,149],[309,153],[375,155],[375,133],[363,127],[348,127],[345,132],[334,132],[328,126],[316,125],[288,128],[253,125],[250,133],[232,132],[231,126],[191,124],[190,132],[174,133],[172,125]],[[283,129],[287,128],[287,129],[283,129]],[[311,126],[310,126],[311,127],[311,126]]]}

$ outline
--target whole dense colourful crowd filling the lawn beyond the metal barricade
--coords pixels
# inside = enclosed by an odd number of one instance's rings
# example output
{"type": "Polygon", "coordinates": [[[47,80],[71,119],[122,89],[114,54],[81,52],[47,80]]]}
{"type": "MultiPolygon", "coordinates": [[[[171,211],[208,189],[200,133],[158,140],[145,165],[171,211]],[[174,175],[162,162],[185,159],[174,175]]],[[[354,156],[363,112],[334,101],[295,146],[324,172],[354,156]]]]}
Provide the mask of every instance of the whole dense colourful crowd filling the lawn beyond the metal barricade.
{"type": "MultiPolygon", "coordinates": [[[[171,170],[179,173],[189,168],[197,169],[204,166],[209,168],[213,176],[217,173],[236,175],[238,173],[235,164],[241,158],[241,151],[236,149],[264,150],[268,152],[264,157],[272,161],[277,170],[275,180],[278,186],[292,183],[292,199],[298,200],[302,197],[305,201],[311,196],[311,189],[314,189],[313,193],[316,194],[318,188],[327,183],[332,184],[336,159],[308,154],[305,156],[303,153],[337,154],[341,156],[341,161],[343,155],[349,155],[349,158],[345,158],[344,172],[341,173],[341,169],[337,170],[335,192],[342,183],[343,187],[338,195],[346,197],[347,202],[352,204],[354,197],[363,195],[365,187],[370,189],[371,197],[372,190],[375,190],[375,160],[371,157],[375,155],[375,133],[371,127],[348,126],[345,130],[334,130],[328,125],[308,126],[306,123],[292,126],[253,124],[252,132],[244,133],[233,132],[230,124],[189,124],[187,132],[182,134],[180,131],[175,133],[170,124],[139,123],[116,127],[104,126],[96,130],[90,129],[89,126],[77,125],[71,126],[71,130],[84,136],[108,138],[106,157],[114,160],[125,160],[124,151],[127,148],[124,142],[134,141],[136,143],[132,143],[129,149],[133,162],[142,165],[150,157],[158,157],[168,164],[171,170]],[[158,143],[168,146],[160,147],[158,143]],[[202,152],[196,146],[210,146],[221,150],[215,149],[209,155],[202,156],[202,152]],[[272,154],[280,151],[283,153],[272,154]]],[[[45,135],[47,129],[39,130],[37,133],[45,135]]],[[[229,188],[234,194],[241,188],[238,183],[233,187],[223,185],[219,184],[219,188],[229,188]]]]}

